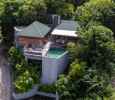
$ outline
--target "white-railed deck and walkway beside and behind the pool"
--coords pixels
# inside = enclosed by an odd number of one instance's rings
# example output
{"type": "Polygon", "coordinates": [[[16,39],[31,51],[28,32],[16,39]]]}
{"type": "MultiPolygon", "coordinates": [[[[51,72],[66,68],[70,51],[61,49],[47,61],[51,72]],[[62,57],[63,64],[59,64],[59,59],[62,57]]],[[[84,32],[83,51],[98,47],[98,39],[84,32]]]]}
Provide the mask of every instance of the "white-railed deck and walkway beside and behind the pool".
{"type": "Polygon", "coordinates": [[[28,59],[41,60],[45,56],[50,48],[64,48],[65,45],[56,42],[47,42],[42,47],[37,48],[24,48],[23,53],[28,59]]]}

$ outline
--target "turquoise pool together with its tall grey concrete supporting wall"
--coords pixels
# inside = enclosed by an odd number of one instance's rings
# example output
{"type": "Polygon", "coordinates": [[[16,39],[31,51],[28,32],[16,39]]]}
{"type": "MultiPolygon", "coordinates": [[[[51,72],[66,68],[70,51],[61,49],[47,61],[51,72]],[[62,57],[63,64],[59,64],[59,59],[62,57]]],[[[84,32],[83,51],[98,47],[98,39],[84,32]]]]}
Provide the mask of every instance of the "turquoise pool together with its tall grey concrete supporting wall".
{"type": "Polygon", "coordinates": [[[54,83],[68,65],[68,51],[60,48],[51,48],[46,56],[42,57],[42,83],[54,83]]]}

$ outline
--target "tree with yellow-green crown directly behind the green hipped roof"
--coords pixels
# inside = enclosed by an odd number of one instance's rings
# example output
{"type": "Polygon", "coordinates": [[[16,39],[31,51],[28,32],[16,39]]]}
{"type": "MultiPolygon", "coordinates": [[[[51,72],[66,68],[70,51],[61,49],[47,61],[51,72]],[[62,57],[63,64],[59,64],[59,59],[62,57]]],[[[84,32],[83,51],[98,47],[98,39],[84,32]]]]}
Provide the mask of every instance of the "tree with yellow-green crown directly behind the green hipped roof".
{"type": "Polygon", "coordinates": [[[32,23],[34,20],[44,21],[46,9],[47,7],[44,0],[24,0],[20,2],[17,24],[27,25],[32,23]]]}

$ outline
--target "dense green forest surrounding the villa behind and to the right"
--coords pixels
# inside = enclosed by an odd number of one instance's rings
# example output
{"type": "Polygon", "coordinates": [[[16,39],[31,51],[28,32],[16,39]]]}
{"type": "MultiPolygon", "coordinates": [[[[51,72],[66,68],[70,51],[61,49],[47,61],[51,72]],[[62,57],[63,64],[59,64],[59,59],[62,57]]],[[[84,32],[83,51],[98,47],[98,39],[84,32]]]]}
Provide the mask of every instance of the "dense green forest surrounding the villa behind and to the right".
{"type": "MultiPolygon", "coordinates": [[[[45,89],[56,90],[61,100],[114,100],[115,0],[0,0],[3,45],[14,45],[14,26],[48,23],[50,14],[76,20],[80,28],[77,43],[67,45],[68,70],[45,89]]],[[[10,55],[21,68],[24,60],[18,51],[11,48],[10,55]]]]}

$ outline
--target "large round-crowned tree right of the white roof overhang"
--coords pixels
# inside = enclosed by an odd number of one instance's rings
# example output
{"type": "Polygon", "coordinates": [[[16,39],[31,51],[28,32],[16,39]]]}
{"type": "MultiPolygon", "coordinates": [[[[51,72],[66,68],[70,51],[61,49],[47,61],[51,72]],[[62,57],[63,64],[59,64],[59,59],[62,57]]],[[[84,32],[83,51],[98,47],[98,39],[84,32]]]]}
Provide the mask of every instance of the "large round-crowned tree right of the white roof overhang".
{"type": "MultiPolygon", "coordinates": [[[[98,71],[106,71],[112,74],[115,64],[115,43],[113,32],[104,26],[91,26],[83,34],[81,33],[85,49],[85,57],[81,56],[98,71]]],[[[101,72],[101,73],[102,73],[101,72]]]]}

